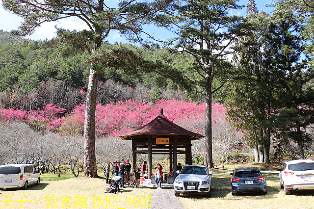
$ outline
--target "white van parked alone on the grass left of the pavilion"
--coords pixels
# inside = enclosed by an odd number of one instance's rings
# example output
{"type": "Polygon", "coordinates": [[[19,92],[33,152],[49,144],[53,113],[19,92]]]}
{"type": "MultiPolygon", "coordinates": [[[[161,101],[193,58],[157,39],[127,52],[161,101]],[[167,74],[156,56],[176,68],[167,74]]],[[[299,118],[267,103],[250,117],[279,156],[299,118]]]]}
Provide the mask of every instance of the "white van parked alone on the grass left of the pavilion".
{"type": "Polygon", "coordinates": [[[28,185],[39,184],[39,173],[32,164],[7,164],[0,166],[0,188],[26,189],[28,185]]]}

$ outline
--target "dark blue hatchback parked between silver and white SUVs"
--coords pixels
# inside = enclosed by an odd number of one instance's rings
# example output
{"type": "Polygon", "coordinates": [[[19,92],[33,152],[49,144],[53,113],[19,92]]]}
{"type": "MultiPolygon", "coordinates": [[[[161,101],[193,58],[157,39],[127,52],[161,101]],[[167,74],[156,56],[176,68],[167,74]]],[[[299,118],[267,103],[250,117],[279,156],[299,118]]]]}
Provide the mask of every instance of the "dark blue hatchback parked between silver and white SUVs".
{"type": "Polygon", "coordinates": [[[267,194],[265,177],[257,167],[235,168],[231,173],[232,195],[243,192],[262,192],[267,194]]]}

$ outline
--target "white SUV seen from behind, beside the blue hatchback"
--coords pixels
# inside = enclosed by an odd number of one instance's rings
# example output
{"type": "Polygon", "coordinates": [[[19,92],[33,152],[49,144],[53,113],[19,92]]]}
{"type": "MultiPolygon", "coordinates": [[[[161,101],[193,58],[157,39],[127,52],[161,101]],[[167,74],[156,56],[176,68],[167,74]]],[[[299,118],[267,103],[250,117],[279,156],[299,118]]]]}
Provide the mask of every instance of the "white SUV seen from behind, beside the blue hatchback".
{"type": "Polygon", "coordinates": [[[285,194],[292,190],[314,190],[314,161],[312,159],[297,159],[285,161],[278,169],[280,187],[285,194]]]}

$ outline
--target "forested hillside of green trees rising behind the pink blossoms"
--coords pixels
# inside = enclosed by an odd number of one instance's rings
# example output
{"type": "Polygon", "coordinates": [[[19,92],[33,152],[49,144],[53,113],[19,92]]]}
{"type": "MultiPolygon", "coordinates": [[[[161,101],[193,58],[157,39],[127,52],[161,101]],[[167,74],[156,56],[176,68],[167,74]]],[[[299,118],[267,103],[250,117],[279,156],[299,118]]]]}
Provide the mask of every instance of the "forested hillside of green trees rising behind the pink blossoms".
{"type": "MultiPolygon", "coordinates": [[[[14,44],[10,40],[20,39],[8,32],[2,32],[1,37],[0,107],[32,111],[53,103],[71,111],[84,103],[79,91],[86,91],[89,65],[81,52],[58,54],[57,48],[49,48],[45,42],[25,40],[14,44]]],[[[184,59],[177,56],[168,61],[181,65],[187,62],[184,59]]],[[[100,104],[162,98],[187,101],[192,96],[156,73],[128,75],[117,67],[107,67],[99,75],[100,104]]]]}

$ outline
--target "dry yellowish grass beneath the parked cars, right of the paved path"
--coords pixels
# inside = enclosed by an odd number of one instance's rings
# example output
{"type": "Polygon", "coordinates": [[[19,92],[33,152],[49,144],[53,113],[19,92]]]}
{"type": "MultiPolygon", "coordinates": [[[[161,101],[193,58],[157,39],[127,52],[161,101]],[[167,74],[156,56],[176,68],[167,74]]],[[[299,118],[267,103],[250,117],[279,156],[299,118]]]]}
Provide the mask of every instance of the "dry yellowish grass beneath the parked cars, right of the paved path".
{"type": "MultiPolygon", "coordinates": [[[[240,166],[238,166],[240,167],[240,166]]],[[[231,176],[213,175],[211,198],[180,195],[179,200],[187,209],[313,209],[314,191],[299,191],[285,195],[280,189],[278,174],[264,174],[268,194],[245,193],[231,195],[231,176]]]]}

